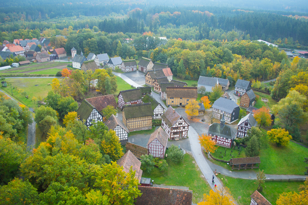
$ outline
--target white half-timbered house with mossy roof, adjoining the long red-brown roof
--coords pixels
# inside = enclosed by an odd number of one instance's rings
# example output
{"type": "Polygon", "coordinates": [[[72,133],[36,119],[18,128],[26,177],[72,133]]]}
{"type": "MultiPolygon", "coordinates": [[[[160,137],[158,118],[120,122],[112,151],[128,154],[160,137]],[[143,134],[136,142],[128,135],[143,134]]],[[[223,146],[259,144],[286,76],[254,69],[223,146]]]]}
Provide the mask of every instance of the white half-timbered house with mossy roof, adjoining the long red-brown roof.
{"type": "Polygon", "coordinates": [[[94,122],[103,121],[103,115],[86,100],[83,100],[77,109],[77,115],[87,127],[93,125],[94,122]]]}

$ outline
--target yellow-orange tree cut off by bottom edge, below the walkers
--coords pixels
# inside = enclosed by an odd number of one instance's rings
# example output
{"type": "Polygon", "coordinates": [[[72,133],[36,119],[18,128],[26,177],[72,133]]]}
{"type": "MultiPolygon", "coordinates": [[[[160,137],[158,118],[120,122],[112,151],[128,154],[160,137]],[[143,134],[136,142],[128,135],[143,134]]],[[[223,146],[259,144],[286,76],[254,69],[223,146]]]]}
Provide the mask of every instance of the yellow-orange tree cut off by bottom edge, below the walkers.
{"type": "Polygon", "coordinates": [[[210,190],[209,195],[203,195],[203,201],[198,205],[235,205],[227,187],[218,186],[216,191],[210,190]]]}

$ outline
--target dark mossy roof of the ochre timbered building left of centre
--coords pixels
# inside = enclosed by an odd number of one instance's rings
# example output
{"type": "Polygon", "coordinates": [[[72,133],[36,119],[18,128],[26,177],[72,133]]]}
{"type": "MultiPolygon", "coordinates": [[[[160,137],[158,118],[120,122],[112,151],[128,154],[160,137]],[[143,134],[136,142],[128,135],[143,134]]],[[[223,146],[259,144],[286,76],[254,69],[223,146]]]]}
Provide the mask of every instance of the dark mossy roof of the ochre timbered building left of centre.
{"type": "Polygon", "coordinates": [[[124,111],[126,119],[133,117],[153,116],[151,103],[123,105],[122,110],[124,111]]]}

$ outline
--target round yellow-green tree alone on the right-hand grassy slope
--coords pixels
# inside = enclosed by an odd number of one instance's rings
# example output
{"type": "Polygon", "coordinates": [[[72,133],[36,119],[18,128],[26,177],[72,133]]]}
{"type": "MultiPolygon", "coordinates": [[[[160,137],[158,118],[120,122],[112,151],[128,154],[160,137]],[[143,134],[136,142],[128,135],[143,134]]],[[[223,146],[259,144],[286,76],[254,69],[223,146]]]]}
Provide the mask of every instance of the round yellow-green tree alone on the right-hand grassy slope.
{"type": "Polygon", "coordinates": [[[287,146],[289,140],[292,139],[289,132],[282,128],[267,131],[267,137],[269,137],[270,142],[275,143],[277,146],[287,146]]]}

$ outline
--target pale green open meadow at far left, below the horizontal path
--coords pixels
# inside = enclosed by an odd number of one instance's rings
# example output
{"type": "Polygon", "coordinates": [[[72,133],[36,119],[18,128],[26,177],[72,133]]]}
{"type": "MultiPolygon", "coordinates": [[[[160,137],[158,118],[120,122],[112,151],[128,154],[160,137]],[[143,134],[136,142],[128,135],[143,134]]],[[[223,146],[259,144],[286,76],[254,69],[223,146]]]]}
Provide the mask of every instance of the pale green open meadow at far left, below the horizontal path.
{"type": "MultiPolygon", "coordinates": [[[[28,107],[33,109],[38,108],[38,104],[34,101],[31,101],[31,98],[35,96],[38,100],[45,98],[47,93],[51,90],[51,85],[47,85],[48,83],[52,83],[52,78],[10,78],[7,79],[8,82],[12,83],[13,86],[23,89],[29,98],[27,99],[21,93],[18,93],[16,89],[13,89],[13,97],[16,98],[21,103],[25,104],[28,107]],[[35,86],[38,85],[38,86],[35,86]]],[[[2,87],[2,89],[8,94],[12,94],[11,87],[7,86],[6,88],[2,87]]]]}

